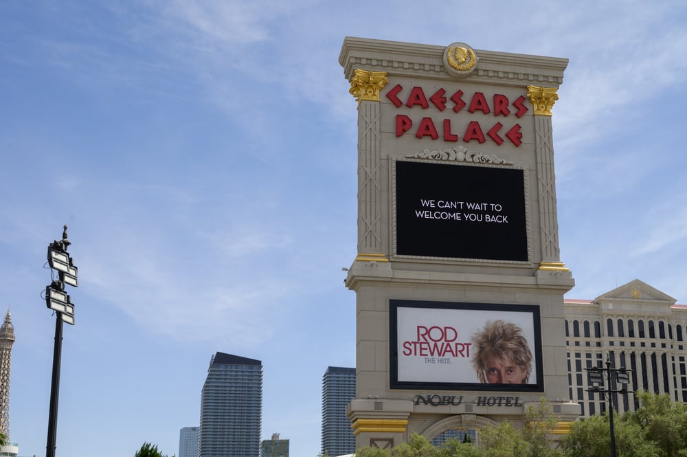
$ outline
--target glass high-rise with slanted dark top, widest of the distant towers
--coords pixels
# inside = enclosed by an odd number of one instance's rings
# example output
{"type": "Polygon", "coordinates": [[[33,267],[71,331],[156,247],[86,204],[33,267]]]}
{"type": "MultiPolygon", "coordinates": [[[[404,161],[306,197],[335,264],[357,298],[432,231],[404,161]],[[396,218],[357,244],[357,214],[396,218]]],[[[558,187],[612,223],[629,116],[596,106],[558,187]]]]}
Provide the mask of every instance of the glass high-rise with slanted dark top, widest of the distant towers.
{"type": "Polygon", "coordinates": [[[201,394],[198,457],[258,457],[261,422],[262,362],[213,355],[201,394]]]}

